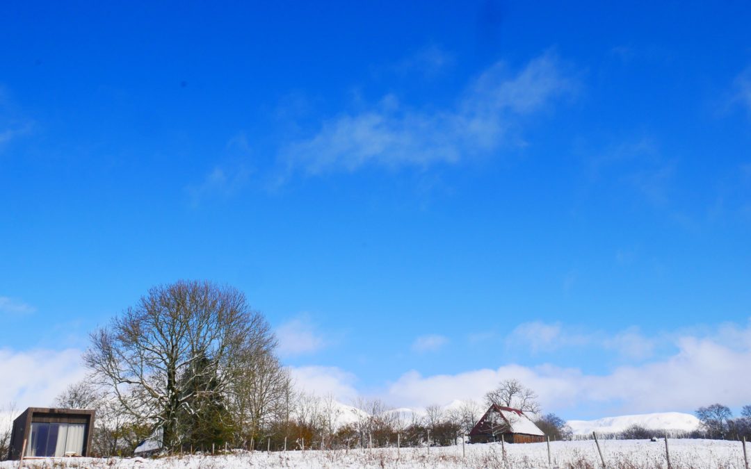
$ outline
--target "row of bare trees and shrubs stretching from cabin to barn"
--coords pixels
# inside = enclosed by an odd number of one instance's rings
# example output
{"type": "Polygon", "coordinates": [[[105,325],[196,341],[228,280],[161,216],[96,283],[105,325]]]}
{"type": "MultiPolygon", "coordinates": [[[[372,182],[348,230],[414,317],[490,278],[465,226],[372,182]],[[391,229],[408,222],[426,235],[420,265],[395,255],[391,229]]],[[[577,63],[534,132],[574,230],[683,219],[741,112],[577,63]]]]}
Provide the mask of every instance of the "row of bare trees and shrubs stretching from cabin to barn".
{"type": "MultiPolygon", "coordinates": [[[[89,377],[54,404],[97,411],[92,452],[100,455],[130,454],[145,439],[167,452],[388,446],[397,437],[405,446],[445,445],[469,433],[483,410],[430,406],[418,418],[379,400],[360,399],[352,410],[296,392],[264,316],[239,290],[209,281],[153,287],[91,340],[89,377]]],[[[515,380],[486,397],[538,410],[534,392],[515,380]]]]}

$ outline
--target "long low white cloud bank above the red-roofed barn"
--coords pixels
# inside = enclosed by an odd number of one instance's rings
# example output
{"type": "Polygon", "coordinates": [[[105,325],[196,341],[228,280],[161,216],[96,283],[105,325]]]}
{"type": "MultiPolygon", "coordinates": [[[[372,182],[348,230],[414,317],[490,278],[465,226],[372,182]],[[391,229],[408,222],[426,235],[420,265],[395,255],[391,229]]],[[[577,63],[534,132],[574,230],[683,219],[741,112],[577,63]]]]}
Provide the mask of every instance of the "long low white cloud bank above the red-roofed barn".
{"type": "Polygon", "coordinates": [[[747,404],[751,326],[725,325],[707,336],[678,335],[674,344],[677,352],[671,356],[619,366],[605,374],[556,365],[503,365],[427,377],[409,371],[388,386],[385,395],[389,401],[415,407],[457,398],[480,400],[499,380],[514,377],[535,389],[544,409],[553,411],[589,409],[604,415],[692,410],[716,401],[747,404]]]}

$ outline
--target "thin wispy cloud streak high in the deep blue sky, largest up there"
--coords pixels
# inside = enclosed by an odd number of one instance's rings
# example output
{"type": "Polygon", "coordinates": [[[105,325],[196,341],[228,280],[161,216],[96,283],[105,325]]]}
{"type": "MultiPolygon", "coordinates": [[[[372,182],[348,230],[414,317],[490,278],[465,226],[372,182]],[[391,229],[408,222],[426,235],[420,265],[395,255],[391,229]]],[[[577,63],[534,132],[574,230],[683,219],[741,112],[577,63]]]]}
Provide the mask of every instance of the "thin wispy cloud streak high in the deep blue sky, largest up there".
{"type": "Polygon", "coordinates": [[[487,155],[511,143],[526,116],[570,95],[575,80],[553,53],[512,74],[497,63],[467,86],[454,107],[415,110],[387,95],[367,110],[323,122],[282,152],[289,170],[354,171],[366,165],[428,167],[487,155]]]}

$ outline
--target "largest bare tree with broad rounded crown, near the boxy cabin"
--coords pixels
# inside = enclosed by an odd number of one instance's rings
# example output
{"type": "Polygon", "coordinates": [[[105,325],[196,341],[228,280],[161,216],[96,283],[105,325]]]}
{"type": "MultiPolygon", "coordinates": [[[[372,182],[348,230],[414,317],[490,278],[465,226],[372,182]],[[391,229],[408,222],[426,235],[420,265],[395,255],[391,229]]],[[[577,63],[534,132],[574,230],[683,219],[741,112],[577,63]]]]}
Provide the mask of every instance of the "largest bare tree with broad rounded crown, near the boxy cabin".
{"type": "Polygon", "coordinates": [[[275,346],[243,293],[209,281],[153,287],[91,338],[86,365],[129,413],[161,429],[167,449],[180,443],[180,415],[225,394],[241,357],[275,346]]]}

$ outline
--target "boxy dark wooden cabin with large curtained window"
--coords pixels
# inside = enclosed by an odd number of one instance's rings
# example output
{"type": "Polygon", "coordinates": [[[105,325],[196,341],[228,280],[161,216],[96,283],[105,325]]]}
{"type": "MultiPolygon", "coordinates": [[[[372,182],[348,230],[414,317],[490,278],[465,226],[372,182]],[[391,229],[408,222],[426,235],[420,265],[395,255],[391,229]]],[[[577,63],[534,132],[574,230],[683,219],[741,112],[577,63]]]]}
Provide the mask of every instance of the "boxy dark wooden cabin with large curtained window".
{"type": "Polygon", "coordinates": [[[8,458],[89,455],[94,410],[29,407],[13,421],[8,458]]]}

